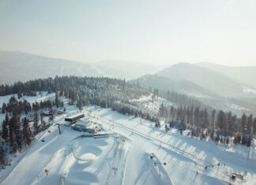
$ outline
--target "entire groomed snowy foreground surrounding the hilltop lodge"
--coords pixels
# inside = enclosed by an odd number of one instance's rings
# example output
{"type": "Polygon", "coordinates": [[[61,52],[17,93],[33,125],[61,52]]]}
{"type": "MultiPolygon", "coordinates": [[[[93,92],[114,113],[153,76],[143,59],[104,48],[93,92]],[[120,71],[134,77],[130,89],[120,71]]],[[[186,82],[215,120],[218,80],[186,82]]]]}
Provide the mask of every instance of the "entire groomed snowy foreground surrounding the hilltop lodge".
{"type": "Polygon", "coordinates": [[[164,125],[154,128],[148,120],[94,106],[84,107],[85,119],[102,124],[100,134],[109,136],[79,137],[88,133],[63,125],[59,135],[56,124],[64,124],[67,114],[77,113],[74,105],[65,106],[66,113],[55,117],[55,124],[48,128],[51,133],[38,135],[0,172],[0,184],[256,184],[252,147],[249,153],[246,146],[228,150],[175,130],[166,133],[164,125]],[[243,179],[231,180],[233,172],[243,174],[243,179]]]}

